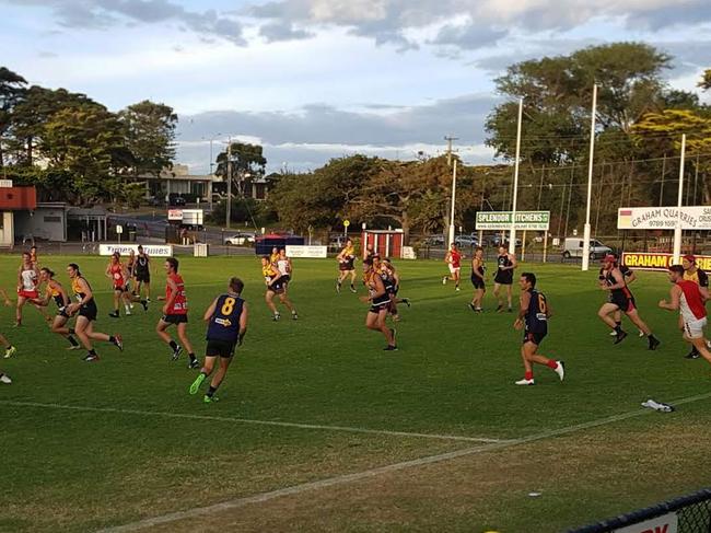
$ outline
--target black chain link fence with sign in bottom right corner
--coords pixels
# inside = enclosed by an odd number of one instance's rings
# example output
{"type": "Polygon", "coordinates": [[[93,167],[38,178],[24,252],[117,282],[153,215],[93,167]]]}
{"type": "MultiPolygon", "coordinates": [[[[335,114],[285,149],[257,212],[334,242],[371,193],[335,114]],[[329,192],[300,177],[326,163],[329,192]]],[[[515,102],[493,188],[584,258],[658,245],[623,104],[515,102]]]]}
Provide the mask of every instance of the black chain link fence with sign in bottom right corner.
{"type": "Polygon", "coordinates": [[[640,525],[639,533],[646,531],[711,533],[711,488],[584,528],[569,530],[568,533],[614,533],[620,530],[637,532],[634,525],[640,525]],[[675,524],[676,529],[674,529],[675,524]]]}

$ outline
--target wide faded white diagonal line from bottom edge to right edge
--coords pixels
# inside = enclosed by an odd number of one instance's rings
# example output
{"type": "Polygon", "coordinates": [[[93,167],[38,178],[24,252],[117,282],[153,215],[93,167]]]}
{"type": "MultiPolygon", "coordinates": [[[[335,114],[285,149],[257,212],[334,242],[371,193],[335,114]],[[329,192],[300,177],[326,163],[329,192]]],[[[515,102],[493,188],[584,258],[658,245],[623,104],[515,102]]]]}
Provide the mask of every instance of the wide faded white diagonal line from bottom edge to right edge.
{"type": "MultiPolygon", "coordinates": [[[[681,405],[681,404],[690,404],[693,402],[698,402],[701,399],[708,399],[711,398],[711,393],[707,394],[699,394],[697,396],[689,396],[686,398],[678,399],[676,402],[671,402],[672,405],[681,405]]],[[[311,482],[311,483],[304,483],[301,485],[293,485],[291,487],[287,488],[281,488],[278,490],[271,490],[268,493],[261,493],[257,494],[254,496],[247,496],[244,498],[237,498],[234,500],[230,501],[223,501],[221,503],[215,503],[213,506],[208,506],[208,507],[198,507],[195,509],[189,509],[187,511],[177,511],[177,512],[171,512],[167,514],[163,514],[161,517],[153,517],[153,518],[148,518],[143,520],[139,520],[137,522],[131,522],[128,524],[124,525],[117,525],[114,528],[106,528],[104,530],[100,530],[97,533],[126,533],[126,532],[131,532],[131,531],[138,531],[142,530],[145,528],[152,528],[155,525],[162,525],[171,522],[176,522],[178,520],[185,520],[185,519],[193,519],[196,517],[201,517],[205,514],[210,514],[213,512],[220,512],[220,511],[226,511],[230,509],[237,509],[241,507],[248,506],[250,503],[259,503],[263,501],[269,501],[275,498],[280,498],[282,496],[289,496],[289,495],[295,495],[295,494],[301,494],[305,493],[307,490],[314,490],[314,489],[319,489],[319,488],[325,488],[325,487],[333,487],[336,485],[345,485],[351,482],[357,482],[360,479],[365,479],[369,477],[374,477],[378,476],[381,474],[388,474],[392,472],[397,472],[397,471],[403,471],[406,468],[412,468],[417,466],[422,466],[426,464],[432,464],[432,463],[440,463],[442,461],[450,461],[453,459],[466,456],[466,455],[474,455],[474,454],[479,454],[483,452],[489,452],[489,451],[497,451],[497,450],[503,450],[506,448],[512,448],[515,445],[520,444],[526,444],[528,442],[535,442],[538,440],[545,440],[545,439],[550,439],[551,437],[558,437],[561,434],[569,434],[573,433],[583,429],[590,429],[590,428],[596,428],[599,426],[606,426],[608,424],[613,424],[616,421],[620,420],[626,420],[628,418],[636,418],[639,416],[648,415],[651,414],[651,409],[637,409],[628,413],[622,413],[620,415],[614,415],[609,416],[606,418],[598,418],[597,420],[591,420],[588,422],[583,422],[583,424],[578,424],[574,426],[568,426],[566,428],[559,428],[555,429],[552,431],[545,431],[541,433],[536,433],[532,434],[528,437],[523,437],[521,439],[515,439],[506,442],[493,442],[490,444],[483,444],[480,447],[476,448],[466,448],[464,450],[456,450],[453,452],[448,453],[441,453],[436,455],[429,455],[420,459],[415,459],[411,461],[404,461],[400,463],[394,463],[394,464],[388,464],[385,466],[378,466],[376,468],[371,468],[366,470],[363,472],[356,472],[353,474],[345,474],[340,476],[334,476],[334,477],[328,477],[325,479],[319,479],[316,482],[311,482]]]]}

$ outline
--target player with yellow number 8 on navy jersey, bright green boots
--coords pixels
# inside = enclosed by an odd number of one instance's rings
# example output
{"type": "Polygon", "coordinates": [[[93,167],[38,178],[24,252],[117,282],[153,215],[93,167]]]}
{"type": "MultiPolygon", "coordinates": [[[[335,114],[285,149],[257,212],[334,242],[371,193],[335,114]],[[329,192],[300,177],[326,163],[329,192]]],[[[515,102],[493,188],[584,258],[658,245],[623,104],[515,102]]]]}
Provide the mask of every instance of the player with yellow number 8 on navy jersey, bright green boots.
{"type": "Polygon", "coordinates": [[[220,358],[218,373],[202,397],[206,404],[217,402],[214,393],[228,373],[235,347],[242,346],[247,333],[247,303],[242,299],[243,289],[244,283],[240,278],[230,279],[228,292],[215,298],[202,317],[208,323],[208,346],[200,374],[190,385],[190,394],[197,394],[202,382],[212,373],[214,360],[220,358]]]}

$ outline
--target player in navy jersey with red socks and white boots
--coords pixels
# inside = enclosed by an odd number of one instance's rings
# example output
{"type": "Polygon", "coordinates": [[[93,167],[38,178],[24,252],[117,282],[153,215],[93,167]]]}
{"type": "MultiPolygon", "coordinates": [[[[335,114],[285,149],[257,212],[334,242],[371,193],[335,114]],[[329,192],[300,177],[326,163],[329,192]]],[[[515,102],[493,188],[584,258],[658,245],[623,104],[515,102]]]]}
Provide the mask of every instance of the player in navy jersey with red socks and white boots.
{"type": "Polygon", "coordinates": [[[523,359],[524,379],[515,382],[516,385],[534,385],[533,364],[545,364],[552,369],[563,381],[566,367],[563,361],[548,359],[538,354],[538,347],[548,335],[548,318],[551,316],[550,306],[546,296],[536,289],[536,275],[523,273],[518,280],[521,287],[521,310],[518,317],[513,323],[515,329],[524,329],[521,357],[523,359]]]}

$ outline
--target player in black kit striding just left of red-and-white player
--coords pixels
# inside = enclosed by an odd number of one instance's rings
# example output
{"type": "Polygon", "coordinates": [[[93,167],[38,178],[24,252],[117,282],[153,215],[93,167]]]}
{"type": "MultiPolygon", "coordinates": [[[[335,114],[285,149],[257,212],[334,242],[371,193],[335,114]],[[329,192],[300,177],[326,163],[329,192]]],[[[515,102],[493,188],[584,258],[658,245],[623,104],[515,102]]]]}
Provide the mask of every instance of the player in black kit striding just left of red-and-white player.
{"type": "Polygon", "coordinates": [[[617,257],[611,254],[608,254],[603,259],[603,275],[599,280],[599,287],[602,290],[607,290],[610,292],[609,301],[604,303],[597,316],[607,324],[611,329],[615,331],[615,344],[621,343],[627,333],[622,327],[615,323],[615,320],[610,316],[615,311],[620,310],[625,313],[632,324],[640,328],[641,332],[646,335],[649,340],[649,349],[655,350],[660,346],[660,339],[657,339],[650,327],[642,321],[639,313],[637,312],[637,305],[634,303],[634,297],[627,287],[625,281],[625,276],[617,266],[617,257]]]}

